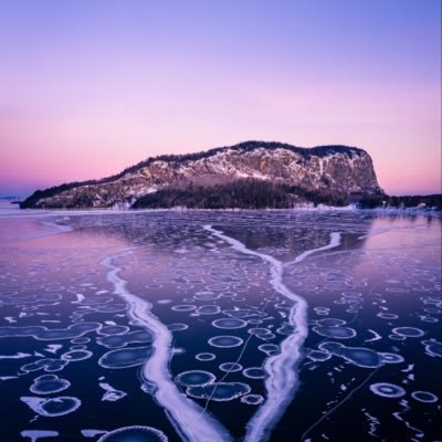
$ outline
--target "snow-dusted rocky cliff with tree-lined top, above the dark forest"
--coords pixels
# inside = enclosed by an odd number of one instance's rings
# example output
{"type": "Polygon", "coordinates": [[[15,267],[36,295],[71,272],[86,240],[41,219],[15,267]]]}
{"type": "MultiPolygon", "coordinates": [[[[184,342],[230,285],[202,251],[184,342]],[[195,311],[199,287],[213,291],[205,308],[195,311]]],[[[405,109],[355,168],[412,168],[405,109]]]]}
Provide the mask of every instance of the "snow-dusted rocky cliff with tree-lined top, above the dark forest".
{"type": "Polygon", "coordinates": [[[207,152],[150,158],[115,177],[36,191],[22,208],[128,208],[159,189],[189,182],[210,187],[244,178],[344,196],[383,193],[365,150],[249,141],[207,152]]]}

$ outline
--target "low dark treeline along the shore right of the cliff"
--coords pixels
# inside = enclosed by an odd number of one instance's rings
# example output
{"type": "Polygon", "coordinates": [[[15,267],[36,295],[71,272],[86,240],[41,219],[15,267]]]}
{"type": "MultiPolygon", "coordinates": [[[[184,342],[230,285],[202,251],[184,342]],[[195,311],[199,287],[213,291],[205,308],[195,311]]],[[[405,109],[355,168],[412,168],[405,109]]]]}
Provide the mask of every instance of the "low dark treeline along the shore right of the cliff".
{"type": "Polygon", "coordinates": [[[361,209],[394,208],[394,209],[436,209],[442,210],[442,194],[388,197],[376,196],[362,198],[361,209]]]}

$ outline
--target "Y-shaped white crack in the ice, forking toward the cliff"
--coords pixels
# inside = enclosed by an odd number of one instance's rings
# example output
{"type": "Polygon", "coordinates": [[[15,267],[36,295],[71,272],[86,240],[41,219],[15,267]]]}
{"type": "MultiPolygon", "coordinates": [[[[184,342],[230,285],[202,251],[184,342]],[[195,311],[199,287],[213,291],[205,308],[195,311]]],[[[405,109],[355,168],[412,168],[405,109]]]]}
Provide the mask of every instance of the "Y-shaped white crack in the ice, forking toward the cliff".
{"type": "Polygon", "coordinates": [[[231,244],[239,252],[261,257],[270,263],[271,285],[277,293],[294,302],[287,320],[295,332],[281,343],[280,351],[276,355],[270,356],[265,360],[264,370],[267,375],[265,380],[266,399],[246,425],[245,442],[266,441],[298,388],[297,367],[302,359],[302,346],[308,335],[307,303],[283,283],[284,267],[297,264],[313,253],[340,245],[340,232],[330,233],[330,242],[327,245],[308,250],[294,261],[283,264],[269,254],[248,249],[240,241],[223,234],[211,225],[204,225],[204,230],[231,244]]]}

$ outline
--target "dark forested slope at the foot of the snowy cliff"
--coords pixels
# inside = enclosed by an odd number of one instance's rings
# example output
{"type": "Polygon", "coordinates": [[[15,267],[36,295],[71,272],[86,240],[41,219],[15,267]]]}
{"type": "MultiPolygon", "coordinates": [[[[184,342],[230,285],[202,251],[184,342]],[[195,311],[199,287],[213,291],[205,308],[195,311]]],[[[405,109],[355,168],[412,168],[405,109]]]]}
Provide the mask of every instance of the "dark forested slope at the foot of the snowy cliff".
{"type": "Polygon", "coordinates": [[[189,183],[166,188],[138,199],[134,209],[186,207],[189,209],[291,209],[303,202],[346,206],[344,197],[327,190],[311,191],[256,179],[236,180],[211,187],[189,183]]]}

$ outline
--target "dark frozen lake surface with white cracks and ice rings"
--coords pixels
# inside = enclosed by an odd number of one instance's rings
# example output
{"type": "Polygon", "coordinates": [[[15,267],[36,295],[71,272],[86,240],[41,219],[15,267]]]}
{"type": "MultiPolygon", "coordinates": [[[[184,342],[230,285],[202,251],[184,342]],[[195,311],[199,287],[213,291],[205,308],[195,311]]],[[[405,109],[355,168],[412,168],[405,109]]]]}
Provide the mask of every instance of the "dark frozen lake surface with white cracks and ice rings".
{"type": "Polygon", "coordinates": [[[0,241],[2,441],[442,440],[440,217],[3,211],[0,241]]]}

